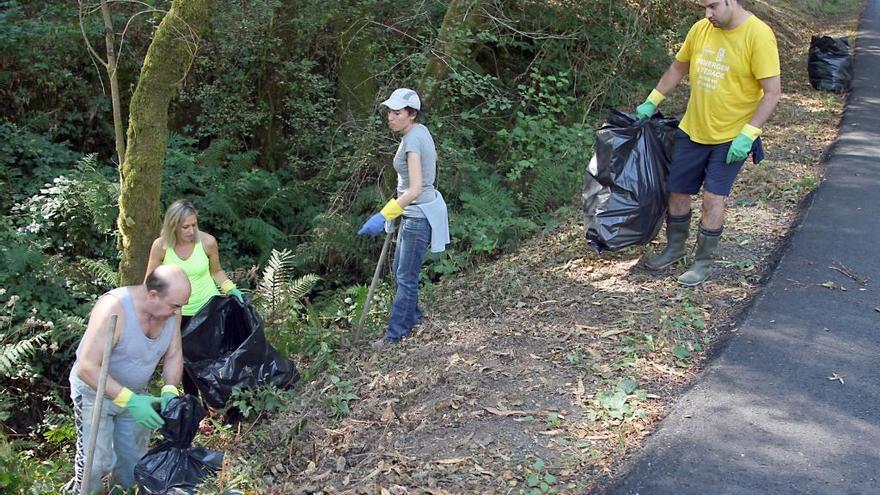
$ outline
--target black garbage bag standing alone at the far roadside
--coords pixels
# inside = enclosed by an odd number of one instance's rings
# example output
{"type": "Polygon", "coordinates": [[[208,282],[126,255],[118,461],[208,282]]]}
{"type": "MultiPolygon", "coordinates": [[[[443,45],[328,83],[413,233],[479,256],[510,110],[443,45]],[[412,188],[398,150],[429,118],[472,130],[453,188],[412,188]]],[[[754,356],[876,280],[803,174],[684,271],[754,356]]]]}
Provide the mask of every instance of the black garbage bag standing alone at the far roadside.
{"type": "Polygon", "coordinates": [[[852,86],[853,61],[846,38],[813,36],[807,60],[810,85],[821,91],[843,93],[852,86]]]}

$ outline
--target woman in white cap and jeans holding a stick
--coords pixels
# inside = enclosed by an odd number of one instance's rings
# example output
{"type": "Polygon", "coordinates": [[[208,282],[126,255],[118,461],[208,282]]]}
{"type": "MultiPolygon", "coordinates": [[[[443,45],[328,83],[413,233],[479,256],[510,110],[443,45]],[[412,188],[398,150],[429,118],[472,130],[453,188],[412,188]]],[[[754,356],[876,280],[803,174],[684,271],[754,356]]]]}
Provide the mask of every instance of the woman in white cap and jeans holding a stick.
{"type": "Polygon", "coordinates": [[[449,243],[446,203],[434,187],[437,151],[428,128],[418,122],[422,108],[419,95],[411,89],[396,89],[382,105],[388,108],[388,127],[403,135],[394,155],[397,198],[391,198],[382,211],[371,216],[358,235],[374,236],[384,230],[386,221],[402,219],[391,268],[397,292],[388,330],[373,344],[376,349],[400,341],[421,323],[419,271],[425,251],[430,245],[431,251],[440,252],[449,243]]]}

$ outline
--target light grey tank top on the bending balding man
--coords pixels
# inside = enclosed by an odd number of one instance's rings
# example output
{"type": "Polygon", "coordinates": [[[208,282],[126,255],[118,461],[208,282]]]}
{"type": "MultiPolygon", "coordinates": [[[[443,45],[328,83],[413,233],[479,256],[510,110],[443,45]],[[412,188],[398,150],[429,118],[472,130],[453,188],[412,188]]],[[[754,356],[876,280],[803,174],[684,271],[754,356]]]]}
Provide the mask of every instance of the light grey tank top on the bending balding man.
{"type": "MultiPolygon", "coordinates": [[[[165,326],[162,327],[162,333],[151,339],[144,335],[141,329],[129,287],[119,287],[105,295],[115,297],[122,304],[123,313],[122,335],[110,353],[109,374],[123,387],[128,387],[134,392],[143,392],[149,385],[159,360],[171,345],[177,316],[168,318],[165,326]]],[[[77,360],[81,352],[82,342],[76,349],[77,360]]],[[[73,369],[72,373],[75,373],[76,366],[73,369]]]]}

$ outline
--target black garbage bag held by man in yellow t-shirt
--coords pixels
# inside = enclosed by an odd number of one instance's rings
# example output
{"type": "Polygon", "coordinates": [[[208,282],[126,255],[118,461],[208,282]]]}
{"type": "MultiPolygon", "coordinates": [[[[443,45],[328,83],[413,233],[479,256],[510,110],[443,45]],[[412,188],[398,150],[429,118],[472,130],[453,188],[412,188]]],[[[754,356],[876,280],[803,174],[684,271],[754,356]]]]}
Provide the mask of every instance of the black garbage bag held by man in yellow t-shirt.
{"type": "Polygon", "coordinates": [[[584,230],[596,251],[647,244],[666,214],[666,176],[678,120],[639,121],[609,110],[584,174],[584,230]]]}

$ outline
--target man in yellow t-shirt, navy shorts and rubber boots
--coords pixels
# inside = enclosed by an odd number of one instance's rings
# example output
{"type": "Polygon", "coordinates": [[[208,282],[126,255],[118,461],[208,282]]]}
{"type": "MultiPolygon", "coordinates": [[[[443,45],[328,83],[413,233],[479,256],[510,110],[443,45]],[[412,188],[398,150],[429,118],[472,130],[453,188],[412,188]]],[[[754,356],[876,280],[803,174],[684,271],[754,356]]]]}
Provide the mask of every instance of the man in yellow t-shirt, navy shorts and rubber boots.
{"type": "Polygon", "coordinates": [[[709,278],[712,253],[724,227],[724,201],[752,153],[763,157],[761,126],[782,94],[776,37],[741,0],[698,0],[706,18],[695,23],[656,88],[638,106],[650,118],[685,74],[691,94],[676,134],[667,179],[669,210],[666,248],[645,266],[660,270],[685,257],[691,195],[703,189],[703,208],[694,262],[678,278],[695,286],[709,278]]]}

